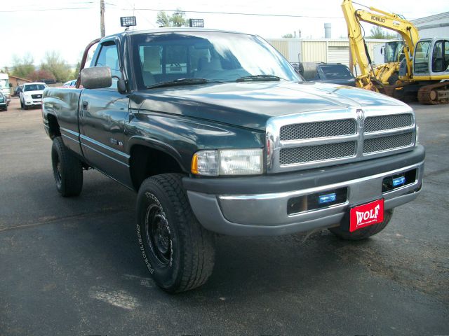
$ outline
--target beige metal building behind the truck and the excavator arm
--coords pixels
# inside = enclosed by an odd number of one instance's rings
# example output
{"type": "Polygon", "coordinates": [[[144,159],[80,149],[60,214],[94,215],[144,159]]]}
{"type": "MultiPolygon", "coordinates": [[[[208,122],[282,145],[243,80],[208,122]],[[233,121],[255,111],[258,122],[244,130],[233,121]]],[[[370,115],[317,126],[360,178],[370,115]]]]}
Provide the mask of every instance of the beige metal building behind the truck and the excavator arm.
{"type": "MultiPolygon", "coordinates": [[[[288,62],[342,63],[349,66],[349,41],[347,38],[267,38],[288,62]]],[[[366,39],[368,52],[373,58],[373,46],[385,40],[366,39]]]]}

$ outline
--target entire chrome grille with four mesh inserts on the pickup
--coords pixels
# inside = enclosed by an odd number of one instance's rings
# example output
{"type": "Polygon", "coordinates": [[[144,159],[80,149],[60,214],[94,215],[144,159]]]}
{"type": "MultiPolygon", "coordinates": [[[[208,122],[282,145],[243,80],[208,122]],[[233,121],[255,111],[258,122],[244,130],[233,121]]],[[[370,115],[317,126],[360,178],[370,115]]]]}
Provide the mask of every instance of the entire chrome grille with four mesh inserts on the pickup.
{"type": "Polygon", "coordinates": [[[416,125],[407,106],[346,107],[267,121],[267,172],[342,165],[410,151],[416,125]],[[273,149],[273,151],[271,151],[273,149]]]}

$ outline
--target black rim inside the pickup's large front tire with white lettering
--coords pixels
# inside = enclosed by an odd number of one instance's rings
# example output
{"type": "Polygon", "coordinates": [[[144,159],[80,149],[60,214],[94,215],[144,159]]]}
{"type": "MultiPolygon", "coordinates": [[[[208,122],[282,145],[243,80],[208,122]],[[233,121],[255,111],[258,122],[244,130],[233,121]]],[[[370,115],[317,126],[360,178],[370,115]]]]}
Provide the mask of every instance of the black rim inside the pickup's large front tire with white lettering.
{"type": "Polygon", "coordinates": [[[162,266],[170,265],[172,239],[165,214],[159,204],[149,204],[145,216],[147,242],[152,254],[162,266]]]}

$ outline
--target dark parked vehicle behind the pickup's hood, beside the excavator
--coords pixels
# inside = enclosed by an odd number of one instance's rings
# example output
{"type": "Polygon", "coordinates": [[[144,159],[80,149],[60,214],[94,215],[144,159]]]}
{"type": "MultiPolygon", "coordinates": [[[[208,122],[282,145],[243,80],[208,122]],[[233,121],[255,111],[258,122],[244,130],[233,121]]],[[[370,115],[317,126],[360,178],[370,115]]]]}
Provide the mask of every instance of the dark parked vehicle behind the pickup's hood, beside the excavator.
{"type": "Polygon", "coordinates": [[[349,68],[341,63],[292,63],[293,68],[305,78],[314,82],[356,86],[356,78],[349,68]]]}

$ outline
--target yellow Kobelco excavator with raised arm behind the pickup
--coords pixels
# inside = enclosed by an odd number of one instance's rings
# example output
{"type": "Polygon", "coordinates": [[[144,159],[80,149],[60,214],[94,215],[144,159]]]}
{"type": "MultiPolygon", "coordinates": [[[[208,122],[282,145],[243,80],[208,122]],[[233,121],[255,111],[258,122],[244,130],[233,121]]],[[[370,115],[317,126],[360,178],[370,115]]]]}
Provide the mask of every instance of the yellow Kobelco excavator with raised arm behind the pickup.
{"type": "Polygon", "coordinates": [[[420,39],[416,27],[401,15],[367,8],[369,10],[356,10],[352,0],[342,2],[352,59],[354,66],[358,65],[361,71],[356,85],[400,99],[414,96],[422,104],[449,103],[449,38],[420,39]],[[402,41],[386,45],[386,49],[396,48],[398,57],[392,57],[391,62],[375,69],[368,54],[361,22],[401,35],[402,41]]]}

